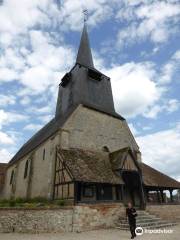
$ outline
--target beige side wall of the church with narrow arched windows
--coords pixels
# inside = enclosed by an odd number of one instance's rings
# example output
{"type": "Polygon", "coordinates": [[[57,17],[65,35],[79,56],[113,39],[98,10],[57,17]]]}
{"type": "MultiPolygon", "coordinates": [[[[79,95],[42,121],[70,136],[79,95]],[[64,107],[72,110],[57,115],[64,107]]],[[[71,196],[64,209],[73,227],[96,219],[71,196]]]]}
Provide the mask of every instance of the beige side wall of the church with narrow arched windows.
{"type": "Polygon", "coordinates": [[[25,155],[17,163],[7,168],[2,198],[10,197],[51,198],[54,182],[55,146],[59,144],[58,133],[25,155]],[[45,159],[43,151],[45,150],[45,159]],[[24,178],[25,164],[29,161],[28,175],[24,178]],[[10,184],[11,173],[14,170],[13,183],[10,184]]]}

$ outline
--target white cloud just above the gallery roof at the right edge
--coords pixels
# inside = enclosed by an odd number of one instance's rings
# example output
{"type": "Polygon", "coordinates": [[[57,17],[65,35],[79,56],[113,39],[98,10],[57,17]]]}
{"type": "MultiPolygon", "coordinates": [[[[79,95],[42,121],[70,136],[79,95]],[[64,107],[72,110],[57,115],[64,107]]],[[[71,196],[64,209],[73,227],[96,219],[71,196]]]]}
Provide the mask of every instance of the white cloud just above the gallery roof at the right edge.
{"type": "Polygon", "coordinates": [[[180,128],[159,131],[136,138],[142,159],[160,171],[180,177],[180,128]]]}

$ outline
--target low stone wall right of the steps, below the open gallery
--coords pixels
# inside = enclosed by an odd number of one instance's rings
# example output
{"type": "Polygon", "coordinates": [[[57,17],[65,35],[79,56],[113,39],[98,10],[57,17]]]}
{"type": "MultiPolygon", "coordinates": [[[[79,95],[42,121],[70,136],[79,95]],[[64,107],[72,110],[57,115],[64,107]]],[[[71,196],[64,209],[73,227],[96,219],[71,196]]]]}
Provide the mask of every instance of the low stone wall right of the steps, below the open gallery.
{"type": "Polygon", "coordinates": [[[180,205],[147,205],[146,210],[162,219],[180,221],[180,205]]]}

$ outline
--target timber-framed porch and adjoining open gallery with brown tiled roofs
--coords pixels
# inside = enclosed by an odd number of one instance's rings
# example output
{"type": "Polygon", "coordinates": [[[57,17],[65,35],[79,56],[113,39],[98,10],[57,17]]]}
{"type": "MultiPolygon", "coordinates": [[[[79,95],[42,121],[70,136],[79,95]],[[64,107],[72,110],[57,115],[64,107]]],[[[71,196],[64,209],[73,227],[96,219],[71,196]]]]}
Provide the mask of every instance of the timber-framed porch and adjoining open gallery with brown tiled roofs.
{"type": "Polygon", "coordinates": [[[138,163],[129,148],[114,153],[57,149],[54,198],[77,203],[124,202],[144,208],[165,203],[163,191],[180,183],[154,168],[138,163]],[[157,198],[151,199],[155,192],[157,198]]]}

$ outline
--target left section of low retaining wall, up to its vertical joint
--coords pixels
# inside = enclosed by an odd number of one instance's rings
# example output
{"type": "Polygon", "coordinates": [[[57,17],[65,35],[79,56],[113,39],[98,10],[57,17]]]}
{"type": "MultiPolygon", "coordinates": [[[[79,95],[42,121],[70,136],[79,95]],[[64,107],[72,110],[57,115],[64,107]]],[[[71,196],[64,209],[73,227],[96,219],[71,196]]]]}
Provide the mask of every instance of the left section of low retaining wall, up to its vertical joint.
{"type": "Polygon", "coordinates": [[[0,232],[69,232],[72,231],[72,208],[0,209],[0,232]]]}

